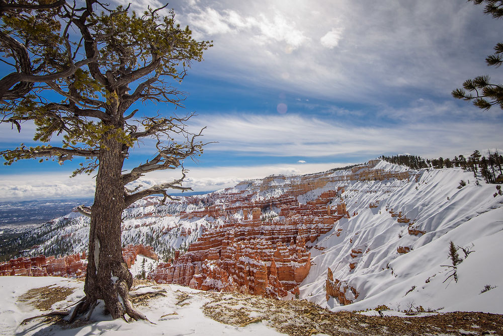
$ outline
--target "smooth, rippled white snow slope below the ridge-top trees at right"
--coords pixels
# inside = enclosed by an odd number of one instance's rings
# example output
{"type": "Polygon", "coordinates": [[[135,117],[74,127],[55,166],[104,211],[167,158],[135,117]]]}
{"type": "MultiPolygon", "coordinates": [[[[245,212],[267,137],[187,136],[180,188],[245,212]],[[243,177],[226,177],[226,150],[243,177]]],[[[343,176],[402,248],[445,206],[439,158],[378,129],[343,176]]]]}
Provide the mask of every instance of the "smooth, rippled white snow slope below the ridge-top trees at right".
{"type": "MultiPolygon", "coordinates": [[[[381,162],[389,166],[389,163],[381,162]]],[[[392,165],[393,166],[393,165],[392,165]]],[[[386,169],[398,169],[397,166],[386,169]]],[[[503,313],[503,196],[493,197],[494,185],[475,184],[472,173],[461,169],[420,171],[414,180],[356,182],[343,195],[348,211],[358,215],[342,219],[318,238],[311,249],[312,263],[302,283],[301,297],[331,310],[364,310],[385,304],[397,310],[423,306],[444,311],[467,310],[503,313]],[[460,180],[469,183],[458,189],[460,180]],[[377,208],[369,208],[379,201],[377,208]],[[425,234],[408,234],[387,210],[399,211],[425,234]],[[342,230],[340,230],[342,229],[342,230]],[[339,232],[337,236],[336,232],[339,232]],[[450,241],[473,250],[457,269],[458,282],[448,277],[450,241]],[[399,254],[407,246],[410,252],[399,254]],[[361,249],[353,258],[351,249],[361,249]],[[354,270],[349,264],[356,263],[354,270]],[[354,287],[359,296],[351,305],[325,299],[327,268],[333,278],[354,287]],[[480,293],[485,285],[495,287],[480,293]]],[[[460,257],[465,259],[461,249],[460,257]]],[[[353,294],[346,295],[349,299],[353,294]]]]}

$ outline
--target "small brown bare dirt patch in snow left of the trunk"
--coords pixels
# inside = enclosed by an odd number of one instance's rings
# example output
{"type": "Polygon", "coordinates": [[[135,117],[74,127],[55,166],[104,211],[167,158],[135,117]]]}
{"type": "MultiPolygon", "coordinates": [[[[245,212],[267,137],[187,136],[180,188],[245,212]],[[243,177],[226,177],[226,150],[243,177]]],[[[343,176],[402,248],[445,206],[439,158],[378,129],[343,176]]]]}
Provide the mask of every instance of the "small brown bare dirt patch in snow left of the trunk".
{"type": "Polygon", "coordinates": [[[55,284],[33,288],[19,296],[18,301],[28,302],[39,310],[49,310],[54,303],[64,301],[74,290],[74,288],[57,287],[55,284]]]}

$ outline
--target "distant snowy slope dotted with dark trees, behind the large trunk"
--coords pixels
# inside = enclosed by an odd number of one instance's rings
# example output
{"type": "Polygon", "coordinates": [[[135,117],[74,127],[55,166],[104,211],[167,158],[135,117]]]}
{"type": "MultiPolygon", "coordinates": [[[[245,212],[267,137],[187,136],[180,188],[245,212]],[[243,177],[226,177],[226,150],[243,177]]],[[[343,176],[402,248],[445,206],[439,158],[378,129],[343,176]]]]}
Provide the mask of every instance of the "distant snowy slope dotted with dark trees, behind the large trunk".
{"type": "MultiPolygon", "coordinates": [[[[198,199],[202,196],[192,196],[198,199]]],[[[122,243],[144,244],[154,247],[161,260],[174,256],[175,250],[187,250],[190,243],[206,228],[214,227],[213,218],[180,219],[180,211],[201,209],[202,204],[181,202],[160,203],[160,198],[149,197],[138,200],[123,213],[122,243]],[[183,236],[182,231],[190,230],[183,236]]],[[[29,231],[19,238],[33,240],[36,236],[38,247],[29,251],[30,256],[43,254],[70,255],[87,251],[89,239],[89,218],[77,212],[56,218],[29,231]]]]}

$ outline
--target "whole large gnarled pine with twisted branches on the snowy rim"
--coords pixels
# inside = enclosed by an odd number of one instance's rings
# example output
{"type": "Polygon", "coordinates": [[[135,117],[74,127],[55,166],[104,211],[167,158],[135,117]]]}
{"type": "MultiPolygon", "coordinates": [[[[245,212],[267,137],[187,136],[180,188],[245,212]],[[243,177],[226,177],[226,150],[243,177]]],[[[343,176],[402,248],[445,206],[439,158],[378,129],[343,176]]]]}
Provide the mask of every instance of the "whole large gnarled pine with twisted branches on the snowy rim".
{"type": "Polygon", "coordinates": [[[58,0],[50,15],[40,12],[39,6],[50,3],[0,2],[0,53],[12,61],[12,73],[24,86],[24,91],[14,90],[17,85],[11,89],[0,81],[0,93],[5,93],[0,120],[18,130],[23,122],[33,122],[34,140],[41,142],[0,154],[6,164],[26,158],[63,164],[81,157],[86,161],[74,175],[97,171],[94,204],[80,207],[91,223],[86,296],[73,312],[85,316],[103,300],[113,318],[128,314],[145,319],[129,297],[132,276],[122,257],[122,211],[145,196],[162,195],[165,200],[171,198],[167,189],[190,189],[182,186],[183,161],[200,155],[204,144],[198,141],[201,131],[187,128],[192,114],[137,115],[131,107],[149,101],[163,109],[182,107],[185,95],[173,83],[181,83],[191,62],[201,61],[211,43],[194,40],[189,27],[176,23],[173,11],[161,18],[160,9],[137,14],[123,7],[110,9],[99,0],[86,0],[83,7],[58,0]],[[5,44],[12,39],[22,43],[5,44]],[[33,69],[36,78],[27,77],[33,69]],[[33,81],[25,85],[25,79],[33,81]],[[61,146],[47,144],[58,135],[61,146]],[[130,149],[148,138],[155,141],[151,159],[124,171],[130,149]],[[181,176],[172,182],[126,187],[145,173],[177,167],[181,176]],[[116,280],[110,281],[111,276],[116,280]]]}

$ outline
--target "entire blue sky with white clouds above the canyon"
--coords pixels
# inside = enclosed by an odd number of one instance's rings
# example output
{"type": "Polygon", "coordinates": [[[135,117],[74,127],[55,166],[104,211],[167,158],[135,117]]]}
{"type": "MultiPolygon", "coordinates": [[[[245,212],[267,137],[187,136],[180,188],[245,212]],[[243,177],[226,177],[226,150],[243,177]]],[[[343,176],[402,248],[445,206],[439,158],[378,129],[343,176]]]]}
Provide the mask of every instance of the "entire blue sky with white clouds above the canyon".
{"type": "MultiPolygon", "coordinates": [[[[140,0],[131,8],[162,5],[140,0]]],[[[478,75],[502,82],[501,69],[487,67],[484,59],[501,42],[503,21],[484,15],[481,6],[449,0],[176,0],[168,8],[194,38],[214,46],[182,83],[185,109],[135,108],[145,114],[195,112],[191,130],[207,127],[203,141],[216,143],[184,164],[185,186],[195,191],[325,171],[383,154],[453,157],[503,147],[501,109],[482,111],[451,96],[478,75]]],[[[0,124],[0,150],[34,144],[33,130],[25,124],[18,134],[0,124]]],[[[124,169],[152,157],[151,145],[135,148],[124,169]]],[[[93,176],[68,178],[76,163],[3,165],[0,201],[92,197],[93,176]]],[[[155,172],[138,183],[179,176],[155,172]]]]}

